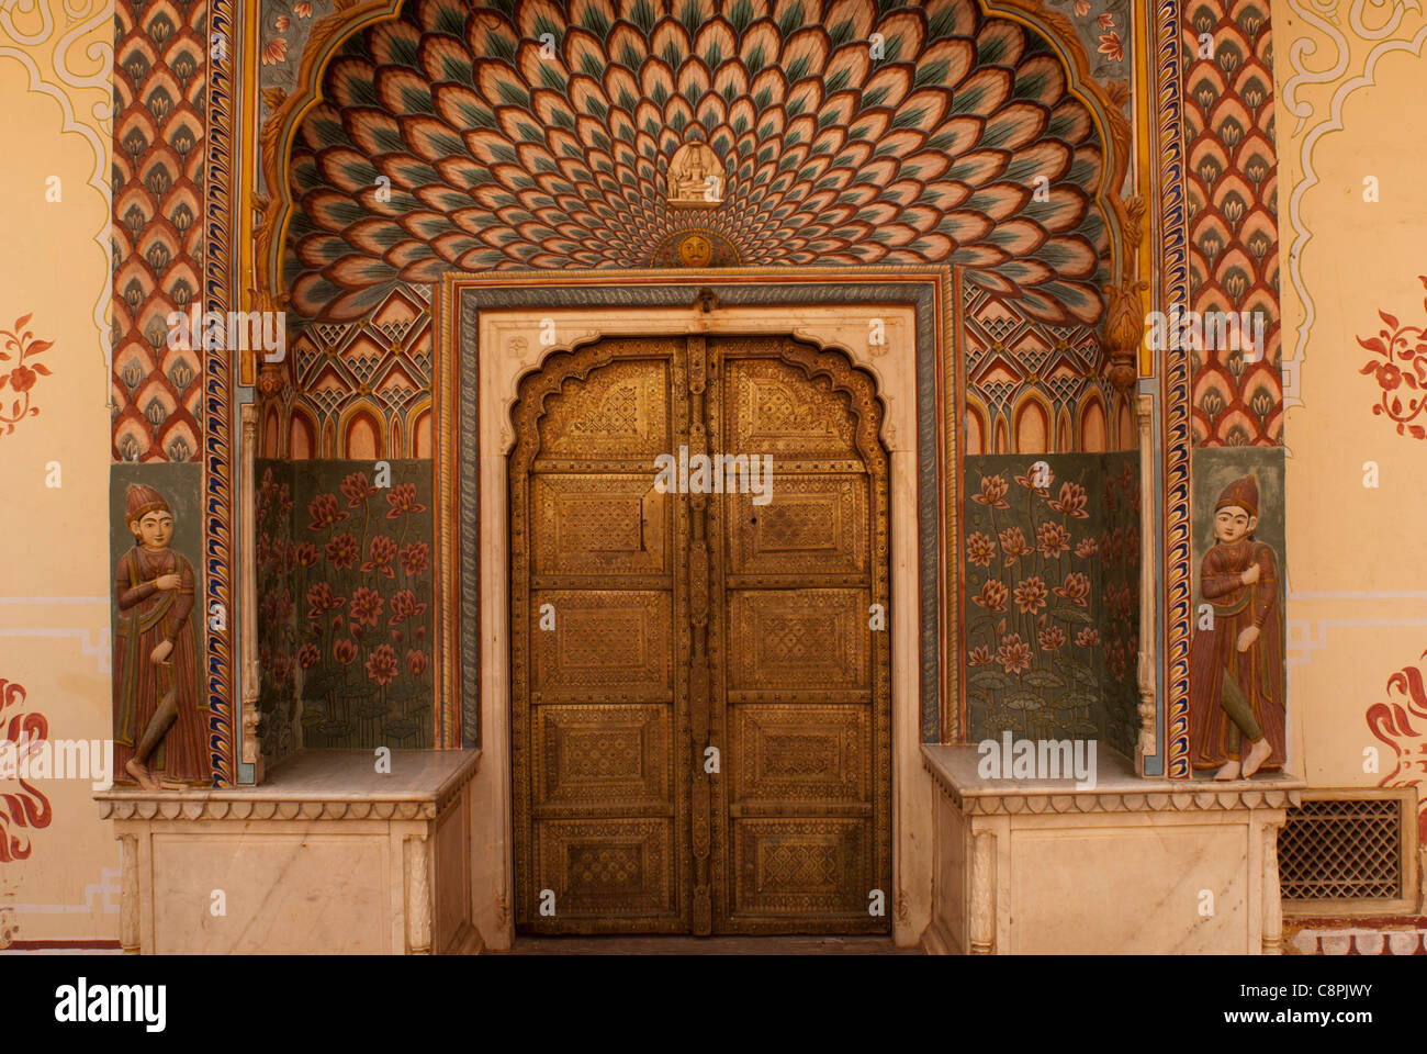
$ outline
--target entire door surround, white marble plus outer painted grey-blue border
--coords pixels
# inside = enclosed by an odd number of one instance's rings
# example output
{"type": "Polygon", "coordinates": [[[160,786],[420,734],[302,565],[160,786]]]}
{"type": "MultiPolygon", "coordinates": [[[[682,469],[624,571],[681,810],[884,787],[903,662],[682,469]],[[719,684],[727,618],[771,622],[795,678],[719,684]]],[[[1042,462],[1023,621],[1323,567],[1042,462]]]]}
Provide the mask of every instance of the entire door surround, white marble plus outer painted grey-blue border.
{"type": "Polygon", "coordinates": [[[434,471],[442,661],[437,683],[442,686],[444,720],[461,721],[468,737],[477,721],[481,730],[484,757],[472,783],[471,900],[475,925],[492,950],[508,948],[514,940],[507,464],[515,443],[511,408],[519,378],[538,370],[549,354],[614,336],[792,336],[835,347],[875,377],[885,408],[882,441],[889,451],[892,536],[895,888],[888,891],[888,911],[893,938],[902,947],[916,944],[930,921],[932,784],[922,766],[920,744],[923,738],[938,738],[938,731],[948,734],[945,714],[948,710],[956,713],[958,698],[955,664],[946,661],[946,638],[953,634],[940,634],[938,627],[955,627],[959,621],[956,578],[945,560],[948,548],[959,551],[955,517],[959,428],[935,427],[942,423],[940,406],[946,401],[956,407],[953,420],[960,420],[959,386],[950,393],[943,387],[959,374],[945,368],[945,360],[952,357],[950,313],[943,307],[953,288],[952,274],[949,268],[915,268],[913,274],[909,274],[913,268],[885,268],[879,276],[882,283],[869,283],[866,276],[850,277],[843,268],[796,270],[803,274],[779,270],[759,276],[763,286],[771,284],[773,276],[783,284],[793,278],[793,288],[775,303],[721,303],[711,310],[706,301],[699,303],[698,294],[712,287],[718,296],[733,277],[729,271],[542,274],[538,290],[555,293],[554,303],[544,306],[529,303],[531,293],[537,291],[535,276],[524,280],[509,274],[447,276],[441,284],[434,471]],[[833,276],[836,278],[831,280],[833,276]],[[609,287],[611,283],[618,283],[616,288],[628,294],[629,280],[638,278],[655,278],[661,290],[682,287],[684,303],[656,306],[649,297],[642,303],[608,306],[581,296],[581,287],[609,287]],[[796,283],[813,280],[815,284],[798,296],[796,283]],[[909,290],[909,280],[922,288],[909,290]],[[474,287],[485,294],[497,287],[508,290],[508,296],[504,300],[485,296],[477,310],[461,296],[474,287]],[[796,321],[789,314],[791,304],[798,304],[796,321]],[[873,317],[882,320],[883,344],[869,340],[873,317]],[[541,340],[542,331],[548,331],[547,323],[554,324],[554,344],[541,340]],[[929,373],[935,393],[925,390],[929,373]],[[929,394],[938,398],[930,430],[926,427],[929,394]],[[461,413],[462,408],[475,413],[461,413]],[[929,450],[933,444],[935,450],[929,450]],[[928,478],[928,457],[932,458],[939,513],[930,524],[928,506],[919,500],[919,481],[928,478]],[[936,470],[936,464],[943,467],[936,470]],[[477,521],[474,531],[468,526],[471,520],[477,521]],[[936,533],[930,547],[925,537],[929,526],[936,533]],[[928,553],[932,568],[926,567],[928,553]],[[461,580],[477,583],[477,588],[461,590],[461,580]],[[918,603],[898,603],[899,597],[916,597],[918,603]],[[929,684],[932,698],[926,706],[929,684]]]}

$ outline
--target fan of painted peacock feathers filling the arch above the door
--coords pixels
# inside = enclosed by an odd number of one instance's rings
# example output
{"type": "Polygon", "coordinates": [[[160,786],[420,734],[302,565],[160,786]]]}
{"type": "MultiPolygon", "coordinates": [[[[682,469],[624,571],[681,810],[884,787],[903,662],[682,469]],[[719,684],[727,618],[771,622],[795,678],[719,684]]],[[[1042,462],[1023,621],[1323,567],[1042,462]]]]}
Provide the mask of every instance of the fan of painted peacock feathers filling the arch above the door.
{"type": "Polygon", "coordinates": [[[975,0],[412,0],[323,99],[290,164],[308,318],[452,268],[662,266],[685,231],[742,266],[960,264],[1050,324],[1102,310],[1099,131],[1049,44],[975,0]],[[666,200],[692,141],[714,207],[666,200]]]}

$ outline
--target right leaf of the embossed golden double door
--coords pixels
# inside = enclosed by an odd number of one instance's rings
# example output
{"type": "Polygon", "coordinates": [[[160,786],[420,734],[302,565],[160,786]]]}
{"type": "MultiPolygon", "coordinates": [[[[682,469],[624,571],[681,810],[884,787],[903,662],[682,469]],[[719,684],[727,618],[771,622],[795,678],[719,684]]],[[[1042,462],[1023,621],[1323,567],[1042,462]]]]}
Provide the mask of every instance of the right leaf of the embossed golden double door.
{"type": "Polygon", "coordinates": [[[771,337],[711,343],[711,431],[721,450],[771,456],[773,468],[771,494],[719,506],[726,760],[714,928],[886,933],[890,634],[872,628],[889,610],[880,404],[838,353],[771,337]],[[883,911],[870,914],[876,890],[883,911]]]}

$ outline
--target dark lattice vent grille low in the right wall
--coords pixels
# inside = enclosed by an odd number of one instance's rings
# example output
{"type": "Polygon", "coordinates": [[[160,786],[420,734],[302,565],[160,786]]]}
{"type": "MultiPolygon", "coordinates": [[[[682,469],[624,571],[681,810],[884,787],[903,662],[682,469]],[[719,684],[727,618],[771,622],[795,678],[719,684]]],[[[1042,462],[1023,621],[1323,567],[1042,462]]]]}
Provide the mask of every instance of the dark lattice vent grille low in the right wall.
{"type": "Polygon", "coordinates": [[[1317,800],[1279,833],[1284,900],[1396,900],[1403,893],[1401,801],[1317,800]]]}

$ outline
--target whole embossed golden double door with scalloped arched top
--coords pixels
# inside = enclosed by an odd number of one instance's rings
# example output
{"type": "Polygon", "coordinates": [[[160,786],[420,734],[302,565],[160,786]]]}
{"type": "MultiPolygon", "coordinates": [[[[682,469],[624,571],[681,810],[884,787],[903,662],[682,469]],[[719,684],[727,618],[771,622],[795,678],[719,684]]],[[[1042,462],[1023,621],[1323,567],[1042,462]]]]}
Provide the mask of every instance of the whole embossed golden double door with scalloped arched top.
{"type": "Polygon", "coordinates": [[[609,338],[522,381],[518,928],[890,930],[880,421],[866,374],[788,338],[609,338]],[[771,493],[661,493],[681,447],[771,456],[771,493]]]}

